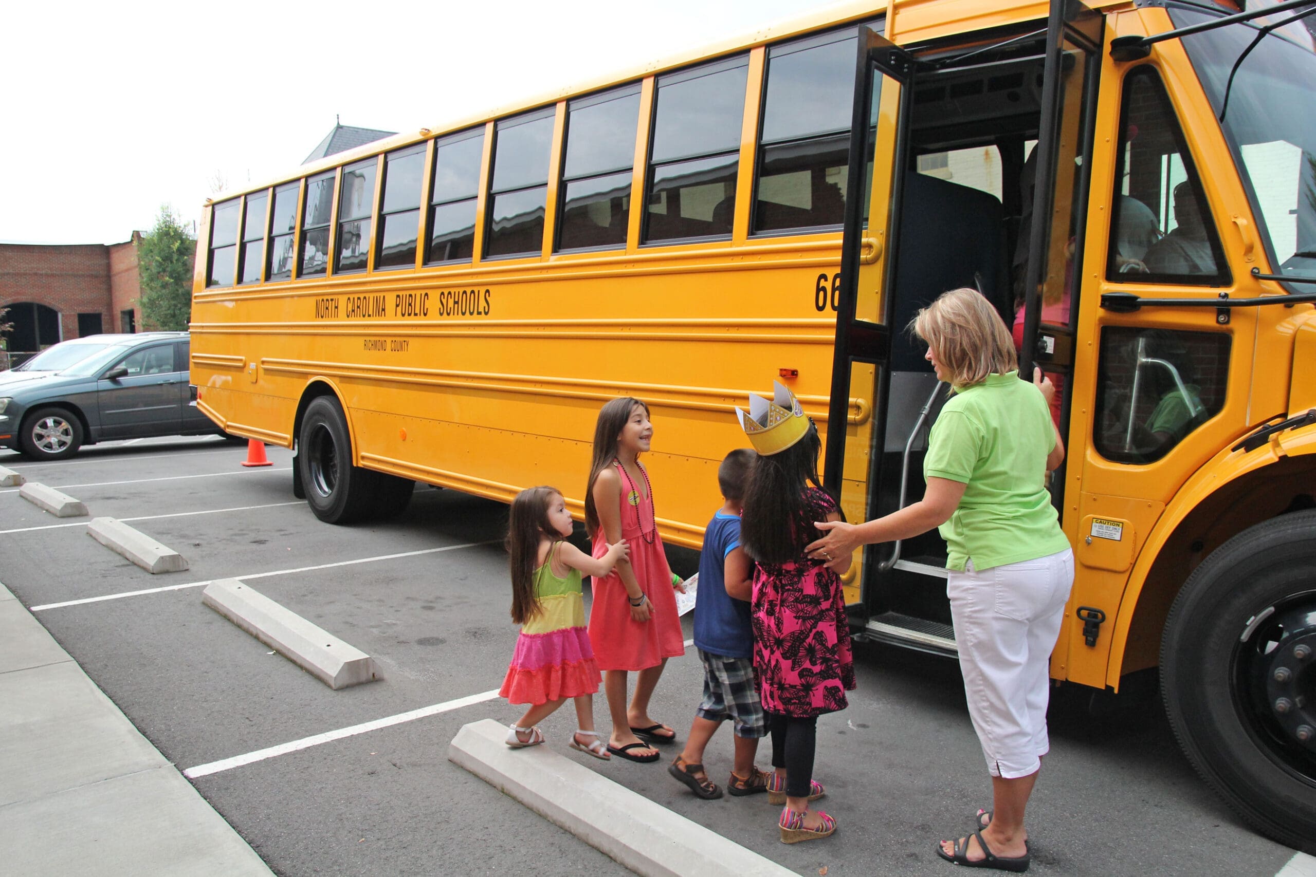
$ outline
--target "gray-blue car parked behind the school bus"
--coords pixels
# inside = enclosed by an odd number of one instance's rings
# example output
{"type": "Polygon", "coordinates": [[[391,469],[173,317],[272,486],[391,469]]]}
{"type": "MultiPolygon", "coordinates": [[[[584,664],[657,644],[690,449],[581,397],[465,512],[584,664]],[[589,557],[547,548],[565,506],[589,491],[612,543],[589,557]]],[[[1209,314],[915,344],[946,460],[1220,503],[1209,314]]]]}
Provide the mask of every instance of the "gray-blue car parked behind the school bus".
{"type": "Polygon", "coordinates": [[[0,372],[0,447],[62,460],[83,444],[220,434],[192,402],[188,334],[88,335],[0,372]]]}

